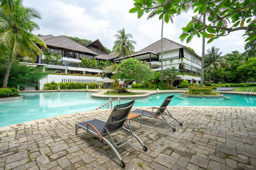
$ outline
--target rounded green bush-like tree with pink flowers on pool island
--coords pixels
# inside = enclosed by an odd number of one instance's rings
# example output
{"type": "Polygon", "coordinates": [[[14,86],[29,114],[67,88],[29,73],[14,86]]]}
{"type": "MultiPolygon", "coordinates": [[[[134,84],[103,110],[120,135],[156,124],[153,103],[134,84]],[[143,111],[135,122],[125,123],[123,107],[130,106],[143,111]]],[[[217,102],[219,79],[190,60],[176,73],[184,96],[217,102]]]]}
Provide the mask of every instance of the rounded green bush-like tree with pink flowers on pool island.
{"type": "Polygon", "coordinates": [[[137,80],[148,81],[152,70],[144,62],[131,58],[119,64],[115,74],[120,80],[124,80],[125,83],[137,80]]]}

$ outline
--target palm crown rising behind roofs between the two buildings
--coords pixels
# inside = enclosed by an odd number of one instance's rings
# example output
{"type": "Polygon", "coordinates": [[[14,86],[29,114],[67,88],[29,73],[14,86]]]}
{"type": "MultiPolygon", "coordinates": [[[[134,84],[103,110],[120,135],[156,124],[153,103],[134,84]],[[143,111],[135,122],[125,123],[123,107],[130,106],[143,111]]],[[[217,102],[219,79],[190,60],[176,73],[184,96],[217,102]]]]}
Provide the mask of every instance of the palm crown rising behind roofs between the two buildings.
{"type": "Polygon", "coordinates": [[[124,29],[120,29],[118,34],[115,34],[116,41],[114,41],[113,51],[118,56],[127,57],[134,52],[134,46],[136,41],[131,40],[132,34],[125,34],[124,29]]]}

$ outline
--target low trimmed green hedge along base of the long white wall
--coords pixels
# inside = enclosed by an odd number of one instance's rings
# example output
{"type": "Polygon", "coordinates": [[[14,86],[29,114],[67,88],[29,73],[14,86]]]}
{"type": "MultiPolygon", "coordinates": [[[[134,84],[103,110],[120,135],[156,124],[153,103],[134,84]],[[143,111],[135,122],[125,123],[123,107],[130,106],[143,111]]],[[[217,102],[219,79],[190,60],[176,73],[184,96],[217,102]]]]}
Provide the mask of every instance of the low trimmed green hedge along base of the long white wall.
{"type": "MultiPolygon", "coordinates": [[[[58,90],[58,85],[60,85],[61,90],[72,90],[72,89],[86,89],[88,85],[89,89],[96,89],[97,83],[77,83],[77,82],[66,82],[66,83],[45,83],[43,90],[58,90]]],[[[105,87],[105,83],[102,83],[102,88],[105,87]]]]}

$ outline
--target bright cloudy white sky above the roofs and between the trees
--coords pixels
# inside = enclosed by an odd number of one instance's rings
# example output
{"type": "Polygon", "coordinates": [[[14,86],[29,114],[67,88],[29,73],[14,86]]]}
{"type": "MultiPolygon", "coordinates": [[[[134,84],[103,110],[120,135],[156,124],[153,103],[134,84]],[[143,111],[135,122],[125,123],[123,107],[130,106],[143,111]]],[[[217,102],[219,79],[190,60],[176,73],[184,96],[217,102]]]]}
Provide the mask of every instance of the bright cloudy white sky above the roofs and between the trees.
{"type": "MultiPolygon", "coordinates": [[[[128,11],[133,7],[132,0],[24,0],[24,5],[36,8],[42,20],[36,20],[40,30],[35,34],[53,36],[76,36],[84,39],[100,39],[109,49],[113,47],[116,31],[124,28],[137,42],[136,51],[161,38],[161,21],[158,17],[147,20],[147,15],[137,18],[128,11]]],[[[192,12],[175,17],[173,24],[164,24],[164,37],[180,42],[182,27],[191,20],[192,12]]],[[[232,32],[206,46],[220,48],[223,53],[234,50],[244,51],[243,31],[232,32]]],[[[198,55],[202,54],[202,39],[193,38],[183,45],[190,46],[198,55]]]]}

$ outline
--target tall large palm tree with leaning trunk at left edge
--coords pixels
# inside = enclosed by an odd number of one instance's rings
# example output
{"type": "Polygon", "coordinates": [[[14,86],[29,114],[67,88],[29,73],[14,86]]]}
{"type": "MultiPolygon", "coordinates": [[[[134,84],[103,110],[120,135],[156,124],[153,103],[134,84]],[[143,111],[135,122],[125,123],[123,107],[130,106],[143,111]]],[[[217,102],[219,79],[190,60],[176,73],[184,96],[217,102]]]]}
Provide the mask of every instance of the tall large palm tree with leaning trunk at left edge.
{"type": "Polygon", "coordinates": [[[22,5],[22,0],[1,0],[0,4],[0,55],[10,53],[8,66],[3,81],[3,88],[7,87],[12,61],[19,55],[29,57],[32,62],[42,50],[36,45],[47,48],[44,41],[31,31],[39,29],[34,18],[40,18],[40,13],[34,8],[22,5]]]}

